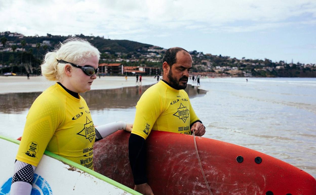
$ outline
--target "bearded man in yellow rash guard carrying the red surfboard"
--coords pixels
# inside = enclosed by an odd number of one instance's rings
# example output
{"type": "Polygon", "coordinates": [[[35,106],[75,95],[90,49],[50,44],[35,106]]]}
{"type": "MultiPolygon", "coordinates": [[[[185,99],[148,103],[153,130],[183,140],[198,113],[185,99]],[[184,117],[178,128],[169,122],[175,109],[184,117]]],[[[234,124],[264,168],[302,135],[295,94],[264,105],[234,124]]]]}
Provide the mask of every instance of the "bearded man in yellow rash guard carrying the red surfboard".
{"type": "MultiPolygon", "coordinates": [[[[129,139],[129,159],[135,190],[153,195],[147,183],[146,144],[151,130],[203,136],[205,127],[195,114],[185,88],[192,68],[192,57],[185,49],[167,49],[162,59],[163,79],[148,88],[136,106],[129,139]]],[[[162,170],[161,170],[162,171],[162,170]]],[[[152,181],[159,182],[159,181],[152,181]]]]}

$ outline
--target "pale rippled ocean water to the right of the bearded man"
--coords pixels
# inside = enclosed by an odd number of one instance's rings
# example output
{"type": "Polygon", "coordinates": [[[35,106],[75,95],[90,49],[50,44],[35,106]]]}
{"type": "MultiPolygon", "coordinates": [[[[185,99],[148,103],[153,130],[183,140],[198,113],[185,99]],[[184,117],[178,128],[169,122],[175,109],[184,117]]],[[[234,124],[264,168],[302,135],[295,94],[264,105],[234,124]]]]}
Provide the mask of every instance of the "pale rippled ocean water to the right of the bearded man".
{"type": "MultiPolygon", "coordinates": [[[[193,98],[205,137],[255,149],[316,178],[316,78],[207,78],[193,98]]],[[[196,85],[196,82],[193,82],[196,85]]]]}

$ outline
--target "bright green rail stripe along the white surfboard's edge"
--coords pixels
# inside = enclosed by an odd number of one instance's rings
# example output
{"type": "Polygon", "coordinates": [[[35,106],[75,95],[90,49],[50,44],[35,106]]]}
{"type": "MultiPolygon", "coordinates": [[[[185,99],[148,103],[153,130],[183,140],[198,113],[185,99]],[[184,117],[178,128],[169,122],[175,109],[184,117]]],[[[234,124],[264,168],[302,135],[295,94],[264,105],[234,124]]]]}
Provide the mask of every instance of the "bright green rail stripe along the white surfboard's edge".
{"type": "MultiPolygon", "coordinates": [[[[4,139],[4,140],[7,140],[9,142],[16,143],[16,144],[20,145],[20,141],[19,140],[8,138],[8,137],[4,137],[2,135],[0,135],[0,138],[4,139]]],[[[58,161],[64,162],[65,164],[67,164],[69,166],[72,166],[72,167],[75,167],[75,168],[77,168],[79,170],[82,170],[85,173],[93,175],[94,177],[99,178],[100,180],[103,180],[103,181],[105,181],[105,182],[107,182],[109,184],[112,184],[113,186],[118,187],[118,188],[120,188],[120,189],[122,189],[122,190],[124,190],[124,191],[126,191],[128,193],[131,193],[131,194],[134,194],[134,195],[142,195],[141,193],[136,192],[135,190],[133,190],[133,189],[127,187],[127,186],[124,186],[123,184],[120,184],[119,182],[114,181],[114,180],[112,180],[112,179],[110,179],[110,178],[108,178],[108,177],[106,177],[104,175],[101,175],[101,174],[99,174],[99,173],[97,173],[97,172],[95,172],[95,171],[93,171],[93,170],[91,170],[89,168],[86,168],[86,167],[84,167],[82,165],[79,165],[78,163],[76,163],[74,161],[70,161],[70,160],[68,160],[68,159],[66,159],[66,158],[64,158],[62,156],[59,156],[59,155],[54,154],[52,152],[49,152],[47,150],[45,150],[44,154],[47,155],[47,156],[50,156],[50,157],[52,157],[52,158],[54,158],[54,159],[56,159],[58,161]]]]}

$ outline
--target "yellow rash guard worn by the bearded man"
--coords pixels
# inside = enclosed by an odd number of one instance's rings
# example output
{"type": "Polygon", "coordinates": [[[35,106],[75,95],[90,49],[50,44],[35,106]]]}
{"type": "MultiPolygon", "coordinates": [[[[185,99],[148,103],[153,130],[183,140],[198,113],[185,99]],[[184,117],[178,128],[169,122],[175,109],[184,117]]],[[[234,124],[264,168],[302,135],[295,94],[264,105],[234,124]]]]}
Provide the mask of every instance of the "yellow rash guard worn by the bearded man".
{"type": "Polygon", "coordinates": [[[190,125],[197,120],[185,90],[176,90],[160,81],[137,102],[132,133],[144,139],[152,129],[191,135],[190,125]]]}

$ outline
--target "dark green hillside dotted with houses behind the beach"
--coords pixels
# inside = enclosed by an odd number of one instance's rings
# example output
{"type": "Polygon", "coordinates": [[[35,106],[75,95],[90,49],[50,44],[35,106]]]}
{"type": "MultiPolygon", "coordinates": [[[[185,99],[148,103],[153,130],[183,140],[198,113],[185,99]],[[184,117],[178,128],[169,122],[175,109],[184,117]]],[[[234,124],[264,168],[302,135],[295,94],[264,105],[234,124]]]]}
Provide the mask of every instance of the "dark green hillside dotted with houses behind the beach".
{"type": "MultiPolygon", "coordinates": [[[[166,49],[130,40],[110,40],[103,37],[75,35],[88,40],[101,52],[100,63],[122,63],[124,66],[148,66],[161,68],[166,49]]],[[[19,33],[0,33],[1,64],[3,72],[25,73],[39,68],[46,52],[54,50],[58,43],[69,36],[24,36],[19,33]],[[3,41],[5,40],[5,41],[3,41]],[[23,52],[22,52],[23,51],[23,52]],[[26,65],[27,64],[27,65],[26,65]]],[[[237,59],[229,56],[190,51],[193,59],[192,73],[208,76],[256,76],[256,77],[316,77],[316,64],[272,62],[269,59],[237,59]]],[[[38,74],[37,71],[35,71],[38,74]]]]}

